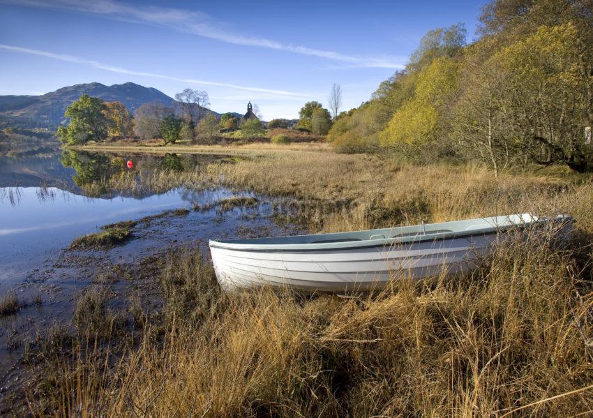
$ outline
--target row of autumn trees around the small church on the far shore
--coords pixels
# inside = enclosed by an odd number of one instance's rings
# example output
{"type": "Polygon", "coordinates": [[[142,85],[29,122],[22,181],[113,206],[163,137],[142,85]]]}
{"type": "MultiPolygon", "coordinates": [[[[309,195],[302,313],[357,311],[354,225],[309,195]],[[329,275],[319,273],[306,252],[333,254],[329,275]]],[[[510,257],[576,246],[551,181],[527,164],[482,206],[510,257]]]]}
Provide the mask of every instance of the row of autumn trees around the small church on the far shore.
{"type": "MultiPolygon", "coordinates": [[[[336,94],[336,91],[338,96],[333,111],[334,119],[341,100],[339,86],[334,84],[332,94],[336,94]]],[[[101,98],[83,94],[66,109],[64,117],[68,124],[58,128],[57,137],[66,145],[127,137],[163,140],[165,145],[175,142],[212,144],[221,137],[264,137],[264,128],[292,128],[297,137],[299,132],[306,132],[312,134],[313,139],[313,135],[326,135],[332,124],[329,110],[316,101],[303,105],[298,120],[272,119],[269,122],[260,120],[257,105],[252,106],[251,103],[248,103],[248,111],[243,117],[229,112],[220,115],[220,118],[216,112],[206,107],[209,104],[206,91],[185,89],[175,95],[173,106],[153,101],[144,103],[132,114],[126,105],[117,100],[104,102],[101,98]]],[[[287,135],[276,135],[271,137],[271,141],[281,144],[290,142],[290,138],[287,135]]]]}

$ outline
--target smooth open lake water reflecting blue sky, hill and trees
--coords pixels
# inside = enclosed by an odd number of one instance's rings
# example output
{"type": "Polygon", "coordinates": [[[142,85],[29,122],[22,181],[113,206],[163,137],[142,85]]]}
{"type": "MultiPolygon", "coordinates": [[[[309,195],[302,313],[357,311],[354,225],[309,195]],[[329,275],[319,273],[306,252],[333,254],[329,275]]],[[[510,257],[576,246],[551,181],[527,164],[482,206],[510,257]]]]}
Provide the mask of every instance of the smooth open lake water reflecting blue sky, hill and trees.
{"type": "MultiPolygon", "coordinates": [[[[112,191],[106,181],[132,170],[195,170],[217,156],[117,156],[73,151],[0,156],[0,291],[100,225],[218,200],[230,191],[112,191]]],[[[202,217],[207,217],[205,214],[202,217]]],[[[195,221],[195,220],[194,220],[195,221]]]]}

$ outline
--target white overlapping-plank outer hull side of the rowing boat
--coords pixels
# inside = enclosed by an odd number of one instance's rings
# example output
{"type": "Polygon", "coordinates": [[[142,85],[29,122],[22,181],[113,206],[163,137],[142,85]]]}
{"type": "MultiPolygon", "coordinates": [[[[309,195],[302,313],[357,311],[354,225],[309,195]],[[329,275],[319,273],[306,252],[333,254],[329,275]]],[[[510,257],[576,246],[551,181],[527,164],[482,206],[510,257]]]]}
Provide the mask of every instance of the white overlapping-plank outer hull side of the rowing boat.
{"type": "Polygon", "coordinates": [[[495,234],[471,238],[325,251],[237,251],[211,248],[226,290],[263,285],[307,292],[381,290],[393,278],[423,278],[470,271],[489,253],[495,234]]]}

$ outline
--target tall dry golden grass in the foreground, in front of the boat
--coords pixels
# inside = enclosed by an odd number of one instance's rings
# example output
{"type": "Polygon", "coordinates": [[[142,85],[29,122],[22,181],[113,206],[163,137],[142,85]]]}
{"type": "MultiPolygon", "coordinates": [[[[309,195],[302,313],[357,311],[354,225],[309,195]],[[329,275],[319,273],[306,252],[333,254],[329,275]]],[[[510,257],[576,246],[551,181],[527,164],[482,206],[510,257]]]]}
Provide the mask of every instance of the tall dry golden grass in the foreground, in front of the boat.
{"type": "Polygon", "coordinates": [[[302,300],[223,294],[200,257],[172,257],[163,328],[110,368],[95,345],[92,355],[79,348],[76,363],[57,368],[54,408],[124,417],[591,412],[593,298],[576,297],[591,291],[576,271],[569,253],[511,244],[473,276],[302,300]]]}

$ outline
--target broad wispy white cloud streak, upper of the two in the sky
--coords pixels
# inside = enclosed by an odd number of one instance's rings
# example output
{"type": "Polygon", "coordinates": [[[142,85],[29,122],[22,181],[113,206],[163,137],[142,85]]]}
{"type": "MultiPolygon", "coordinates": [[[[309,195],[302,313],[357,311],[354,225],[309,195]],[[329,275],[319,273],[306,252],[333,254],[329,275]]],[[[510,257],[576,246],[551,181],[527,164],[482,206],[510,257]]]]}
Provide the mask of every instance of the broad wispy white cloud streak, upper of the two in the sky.
{"type": "Polygon", "coordinates": [[[403,68],[406,61],[405,57],[360,57],[301,45],[287,45],[267,38],[243,36],[232,31],[228,24],[214,20],[206,13],[178,8],[137,6],[114,0],[0,0],[0,3],[104,15],[112,19],[151,24],[174,31],[193,33],[194,35],[235,45],[262,47],[320,57],[350,67],[403,68]]]}

